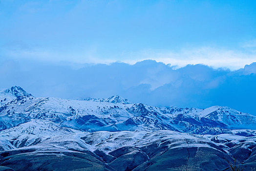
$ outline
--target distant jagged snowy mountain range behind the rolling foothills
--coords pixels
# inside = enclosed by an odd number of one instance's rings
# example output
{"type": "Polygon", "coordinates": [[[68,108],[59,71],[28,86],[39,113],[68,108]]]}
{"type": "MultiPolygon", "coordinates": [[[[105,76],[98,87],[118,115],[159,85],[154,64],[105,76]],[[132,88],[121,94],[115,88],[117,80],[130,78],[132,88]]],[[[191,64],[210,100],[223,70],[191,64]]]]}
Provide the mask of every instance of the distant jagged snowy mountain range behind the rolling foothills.
{"type": "MultiPolygon", "coordinates": [[[[37,98],[26,92],[22,93],[22,98],[16,98],[0,107],[1,130],[32,119],[49,120],[65,127],[90,132],[174,130],[195,134],[220,134],[232,133],[232,129],[254,129],[256,125],[255,116],[229,107],[159,108],[141,103],[124,103],[128,101],[120,96],[112,96],[105,101],[79,101],[37,98]]],[[[250,130],[240,132],[248,136],[254,133],[250,130]]]]}

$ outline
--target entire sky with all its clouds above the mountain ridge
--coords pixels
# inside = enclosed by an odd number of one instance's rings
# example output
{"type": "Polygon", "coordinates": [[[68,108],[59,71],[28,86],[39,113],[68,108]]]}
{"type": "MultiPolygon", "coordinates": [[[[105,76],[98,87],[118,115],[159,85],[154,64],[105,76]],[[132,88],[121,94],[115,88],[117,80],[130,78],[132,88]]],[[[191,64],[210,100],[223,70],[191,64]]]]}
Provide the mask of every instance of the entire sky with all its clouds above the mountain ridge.
{"type": "Polygon", "coordinates": [[[0,0],[0,88],[256,115],[255,0],[0,0]]]}

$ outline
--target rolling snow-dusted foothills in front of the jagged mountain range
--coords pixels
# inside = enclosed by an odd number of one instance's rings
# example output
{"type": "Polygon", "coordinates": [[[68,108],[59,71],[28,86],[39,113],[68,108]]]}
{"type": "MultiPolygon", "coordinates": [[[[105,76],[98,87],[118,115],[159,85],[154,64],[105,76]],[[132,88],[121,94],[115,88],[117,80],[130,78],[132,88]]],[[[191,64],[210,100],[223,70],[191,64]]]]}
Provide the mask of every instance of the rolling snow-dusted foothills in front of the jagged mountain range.
{"type": "MultiPolygon", "coordinates": [[[[88,133],[38,120],[1,131],[0,137],[0,147],[4,150],[0,152],[0,156],[8,154],[9,158],[15,159],[15,154],[24,155],[19,161],[30,163],[28,167],[45,166],[45,163],[41,164],[36,159],[30,160],[31,155],[43,155],[50,151],[54,157],[65,157],[66,152],[83,154],[90,151],[90,155],[98,156],[113,171],[143,171],[153,166],[159,170],[224,170],[228,167],[226,160],[231,161],[229,153],[252,153],[256,147],[256,137],[232,134],[195,135],[171,130],[88,133]],[[47,134],[47,129],[50,134],[47,134]]],[[[242,161],[251,160],[247,153],[241,158],[242,161]]],[[[48,156],[48,153],[45,155],[48,156]]],[[[15,168],[19,163],[15,160],[12,164],[12,160],[6,159],[0,157],[0,165],[15,168]]],[[[21,167],[23,164],[21,163],[21,167]]]]}

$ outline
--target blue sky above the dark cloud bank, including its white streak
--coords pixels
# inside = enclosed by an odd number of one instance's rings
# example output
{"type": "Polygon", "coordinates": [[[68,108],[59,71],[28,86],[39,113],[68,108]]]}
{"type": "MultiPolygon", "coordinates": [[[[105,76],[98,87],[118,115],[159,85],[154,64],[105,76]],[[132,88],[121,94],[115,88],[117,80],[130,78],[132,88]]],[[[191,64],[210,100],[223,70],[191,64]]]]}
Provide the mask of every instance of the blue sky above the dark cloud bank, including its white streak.
{"type": "Polygon", "coordinates": [[[0,0],[0,60],[256,61],[255,0],[0,0]]]}

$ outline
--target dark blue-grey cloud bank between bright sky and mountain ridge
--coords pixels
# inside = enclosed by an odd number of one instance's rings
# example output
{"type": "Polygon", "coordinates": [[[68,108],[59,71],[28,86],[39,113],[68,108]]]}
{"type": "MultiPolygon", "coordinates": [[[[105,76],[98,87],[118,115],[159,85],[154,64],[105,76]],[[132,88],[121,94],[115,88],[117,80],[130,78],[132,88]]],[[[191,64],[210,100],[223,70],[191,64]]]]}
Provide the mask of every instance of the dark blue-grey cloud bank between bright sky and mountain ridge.
{"type": "Polygon", "coordinates": [[[256,115],[256,63],[230,71],[196,64],[174,69],[155,61],[70,65],[5,61],[0,87],[20,85],[35,96],[68,99],[121,95],[154,106],[228,106],[256,115]]]}

